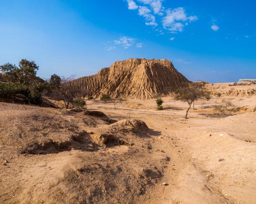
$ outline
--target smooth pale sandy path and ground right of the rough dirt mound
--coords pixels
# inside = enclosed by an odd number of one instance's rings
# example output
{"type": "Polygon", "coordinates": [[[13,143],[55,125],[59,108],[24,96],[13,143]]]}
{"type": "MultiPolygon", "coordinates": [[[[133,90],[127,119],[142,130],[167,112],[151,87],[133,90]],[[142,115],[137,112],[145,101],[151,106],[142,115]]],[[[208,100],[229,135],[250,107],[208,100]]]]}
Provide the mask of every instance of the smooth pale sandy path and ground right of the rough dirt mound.
{"type": "Polygon", "coordinates": [[[104,110],[113,119],[141,119],[161,132],[154,137],[154,149],[155,156],[160,153],[170,158],[161,181],[168,185],[148,190],[142,203],[256,203],[256,113],[220,119],[194,111],[185,120],[184,111],[177,110],[129,109],[124,105],[113,109],[111,104],[90,102],[88,108],[104,110]],[[245,142],[248,138],[251,142],[245,142]]]}

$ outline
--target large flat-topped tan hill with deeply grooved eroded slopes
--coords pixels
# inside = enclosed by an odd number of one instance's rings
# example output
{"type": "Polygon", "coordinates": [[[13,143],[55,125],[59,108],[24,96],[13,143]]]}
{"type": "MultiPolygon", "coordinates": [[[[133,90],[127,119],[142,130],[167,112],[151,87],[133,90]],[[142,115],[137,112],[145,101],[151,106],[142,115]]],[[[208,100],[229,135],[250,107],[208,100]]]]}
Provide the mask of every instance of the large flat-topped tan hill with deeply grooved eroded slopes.
{"type": "Polygon", "coordinates": [[[71,83],[95,97],[109,94],[111,97],[149,99],[168,95],[183,82],[188,79],[167,59],[126,59],[71,83]]]}

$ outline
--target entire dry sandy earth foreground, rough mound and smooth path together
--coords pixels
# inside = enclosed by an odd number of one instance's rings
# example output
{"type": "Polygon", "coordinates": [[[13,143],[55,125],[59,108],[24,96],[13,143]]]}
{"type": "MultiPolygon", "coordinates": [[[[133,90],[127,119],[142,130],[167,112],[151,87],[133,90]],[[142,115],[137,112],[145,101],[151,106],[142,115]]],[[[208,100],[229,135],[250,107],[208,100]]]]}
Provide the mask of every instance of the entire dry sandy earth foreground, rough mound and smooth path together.
{"type": "Polygon", "coordinates": [[[175,106],[0,103],[0,203],[256,203],[256,112],[185,120],[186,104],[175,106]]]}

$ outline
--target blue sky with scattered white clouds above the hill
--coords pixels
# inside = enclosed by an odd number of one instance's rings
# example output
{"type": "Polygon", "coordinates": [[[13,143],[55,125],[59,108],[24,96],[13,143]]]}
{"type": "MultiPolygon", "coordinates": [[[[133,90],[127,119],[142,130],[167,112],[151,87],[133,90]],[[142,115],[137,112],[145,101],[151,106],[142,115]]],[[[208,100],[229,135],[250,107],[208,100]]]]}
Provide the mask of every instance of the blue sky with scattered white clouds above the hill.
{"type": "Polygon", "coordinates": [[[169,59],[188,79],[256,78],[253,0],[0,0],[0,64],[95,74],[127,58],[169,59]]]}

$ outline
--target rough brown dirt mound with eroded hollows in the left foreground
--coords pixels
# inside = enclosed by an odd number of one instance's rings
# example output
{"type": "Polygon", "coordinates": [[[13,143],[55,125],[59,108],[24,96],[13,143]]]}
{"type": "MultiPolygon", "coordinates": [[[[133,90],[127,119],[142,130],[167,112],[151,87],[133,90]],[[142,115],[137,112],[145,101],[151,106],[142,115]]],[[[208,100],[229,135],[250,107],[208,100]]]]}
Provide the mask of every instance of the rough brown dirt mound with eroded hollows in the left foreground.
{"type": "Polygon", "coordinates": [[[72,110],[0,103],[0,203],[133,204],[157,184],[144,122],[72,110]]]}

